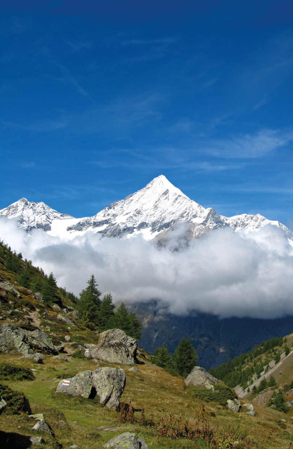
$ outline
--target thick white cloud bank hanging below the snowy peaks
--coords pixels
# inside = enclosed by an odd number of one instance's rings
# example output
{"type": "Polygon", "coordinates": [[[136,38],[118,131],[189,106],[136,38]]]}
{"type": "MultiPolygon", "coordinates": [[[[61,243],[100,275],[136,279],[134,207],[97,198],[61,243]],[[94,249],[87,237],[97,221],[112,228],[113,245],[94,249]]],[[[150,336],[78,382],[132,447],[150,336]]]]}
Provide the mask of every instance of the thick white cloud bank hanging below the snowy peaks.
{"type": "Polygon", "coordinates": [[[1,239],[45,273],[53,271],[58,285],[75,294],[94,273],[102,293],[111,291],[115,302],[159,299],[178,315],[293,315],[293,247],[281,229],[218,229],[174,251],[185,232],[183,225],[168,247],[158,249],[139,234],[117,239],[86,233],[66,241],[37,229],[29,235],[0,219],[1,239]]]}

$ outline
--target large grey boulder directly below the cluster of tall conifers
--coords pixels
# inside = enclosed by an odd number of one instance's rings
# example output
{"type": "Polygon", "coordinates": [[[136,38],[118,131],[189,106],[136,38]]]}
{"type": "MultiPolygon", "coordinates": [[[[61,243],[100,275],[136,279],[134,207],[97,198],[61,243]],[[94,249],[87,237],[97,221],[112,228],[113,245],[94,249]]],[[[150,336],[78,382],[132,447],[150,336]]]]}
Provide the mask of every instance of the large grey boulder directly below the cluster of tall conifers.
{"type": "Polygon", "coordinates": [[[84,356],[106,360],[122,365],[134,365],[138,342],[129,337],[123,330],[110,329],[102,332],[97,345],[85,344],[84,356]]]}

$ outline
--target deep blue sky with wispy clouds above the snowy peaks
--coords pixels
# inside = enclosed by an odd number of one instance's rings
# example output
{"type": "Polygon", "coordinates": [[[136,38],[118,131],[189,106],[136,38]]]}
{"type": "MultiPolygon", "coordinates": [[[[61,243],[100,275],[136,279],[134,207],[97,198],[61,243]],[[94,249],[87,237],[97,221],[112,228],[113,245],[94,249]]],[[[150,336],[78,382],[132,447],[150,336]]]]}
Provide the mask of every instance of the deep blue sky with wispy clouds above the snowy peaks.
{"type": "Polygon", "coordinates": [[[0,208],[92,216],[164,174],[293,227],[286,1],[4,1],[0,208]]]}

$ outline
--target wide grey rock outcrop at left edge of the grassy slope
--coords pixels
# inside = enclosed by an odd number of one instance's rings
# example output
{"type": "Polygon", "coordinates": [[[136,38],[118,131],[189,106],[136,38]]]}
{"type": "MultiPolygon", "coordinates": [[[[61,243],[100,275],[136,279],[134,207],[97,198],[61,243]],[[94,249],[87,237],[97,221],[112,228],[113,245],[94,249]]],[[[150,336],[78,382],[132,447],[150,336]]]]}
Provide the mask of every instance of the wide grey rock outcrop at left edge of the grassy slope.
{"type": "Polygon", "coordinates": [[[15,348],[22,354],[34,354],[37,351],[57,354],[48,335],[42,330],[24,330],[21,327],[2,324],[0,326],[0,352],[9,352],[15,348]]]}

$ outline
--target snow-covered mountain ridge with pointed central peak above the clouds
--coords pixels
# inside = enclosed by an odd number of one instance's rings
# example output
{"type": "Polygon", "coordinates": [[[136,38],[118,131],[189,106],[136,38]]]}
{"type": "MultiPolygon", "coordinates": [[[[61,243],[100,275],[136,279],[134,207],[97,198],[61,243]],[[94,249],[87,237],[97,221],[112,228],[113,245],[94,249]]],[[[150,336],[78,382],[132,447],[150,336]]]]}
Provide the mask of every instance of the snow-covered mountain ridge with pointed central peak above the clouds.
{"type": "Polygon", "coordinates": [[[18,226],[27,232],[43,229],[61,238],[73,238],[86,232],[116,238],[132,233],[142,233],[146,239],[158,239],[159,236],[168,238],[171,229],[185,223],[190,238],[227,226],[235,231],[252,231],[271,224],[283,229],[288,238],[293,240],[293,233],[279,221],[267,220],[259,214],[227,218],[218,215],[211,207],[205,209],[174,187],[163,175],[153,179],[138,192],[111,203],[93,217],[74,218],[53,210],[44,202],[30,202],[26,198],[0,210],[0,217],[17,220],[18,226]]]}

